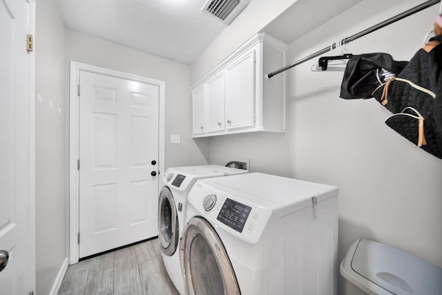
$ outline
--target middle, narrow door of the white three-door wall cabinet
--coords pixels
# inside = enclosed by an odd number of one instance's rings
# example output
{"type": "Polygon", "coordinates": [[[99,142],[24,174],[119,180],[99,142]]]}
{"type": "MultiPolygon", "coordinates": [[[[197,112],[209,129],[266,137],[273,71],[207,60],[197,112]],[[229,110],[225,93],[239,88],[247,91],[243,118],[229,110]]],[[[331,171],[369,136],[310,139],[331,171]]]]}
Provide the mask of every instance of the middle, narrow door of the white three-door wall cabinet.
{"type": "Polygon", "coordinates": [[[224,129],[224,70],[206,83],[207,104],[209,104],[207,132],[224,129]]]}

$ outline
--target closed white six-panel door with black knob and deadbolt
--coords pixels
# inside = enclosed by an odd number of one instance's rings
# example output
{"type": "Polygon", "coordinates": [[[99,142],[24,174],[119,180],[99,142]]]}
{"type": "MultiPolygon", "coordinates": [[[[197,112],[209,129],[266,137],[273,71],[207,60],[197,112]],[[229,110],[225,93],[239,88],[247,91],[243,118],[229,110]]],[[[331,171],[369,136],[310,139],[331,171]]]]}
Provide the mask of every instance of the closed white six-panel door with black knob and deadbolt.
{"type": "Polygon", "coordinates": [[[80,70],[79,257],[157,236],[160,88],[80,70]]]}

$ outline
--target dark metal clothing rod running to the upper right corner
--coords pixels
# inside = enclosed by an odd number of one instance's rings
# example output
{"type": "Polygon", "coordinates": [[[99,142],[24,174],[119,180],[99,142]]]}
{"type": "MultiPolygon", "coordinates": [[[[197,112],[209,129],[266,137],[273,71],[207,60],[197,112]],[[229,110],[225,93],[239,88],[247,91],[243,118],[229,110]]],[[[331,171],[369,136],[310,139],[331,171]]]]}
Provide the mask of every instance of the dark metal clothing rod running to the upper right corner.
{"type": "MultiPolygon", "coordinates": [[[[410,15],[414,15],[414,13],[424,10],[425,8],[429,8],[430,6],[433,6],[434,4],[437,4],[439,2],[441,2],[441,0],[425,1],[424,3],[419,4],[418,6],[415,6],[414,8],[410,8],[409,10],[406,10],[406,11],[404,11],[394,17],[391,17],[390,19],[382,21],[381,23],[378,23],[370,28],[367,28],[361,32],[358,32],[350,37],[343,39],[343,41],[341,41],[341,45],[347,44],[351,41],[354,41],[358,38],[368,35],[369,33],[374,32],[375,30],[378,30],[378,29],[383,28],[385,26],[388,26],[388,25],[390,25],[400,19],[404,19],[405,17],[409,17],[410,15]]],[[[293,64],[289,64],[288,66],[280,68],[279,70],[275,70],[274,72],[267,74],[267,77],[271,78],[274,75],[278,75],[279,73],[282,73],[285,70],[288,70],[289,68],[293,68],[294,66],[298,66],[298,64],[302,64],[305,61],[308,61],[310,59],[314,59],[315,57],[318,57],[319,55],[323,55],[324,53],[327,53],[334,48],[336,48],[336,43],[333,44],[332,46],[327,46],[326,48],[323,48],[323,49],[317,51],[316,53],[312,53],[311,55],[309,55],[307,57],[299,59],[298,61],[295,61],[293,64]]]]}

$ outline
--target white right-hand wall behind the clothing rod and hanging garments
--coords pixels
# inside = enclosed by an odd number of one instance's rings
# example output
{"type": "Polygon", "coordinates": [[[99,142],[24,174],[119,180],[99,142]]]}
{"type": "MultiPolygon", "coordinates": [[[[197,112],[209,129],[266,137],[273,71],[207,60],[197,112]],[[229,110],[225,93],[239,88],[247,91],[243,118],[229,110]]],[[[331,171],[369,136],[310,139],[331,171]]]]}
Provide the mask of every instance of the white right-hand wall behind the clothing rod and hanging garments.
{"type": "MultiPolygon", "coordinates": [[[[421,2],[365,0],[294,41],[288,63],[421,2]]],[[[362,37],[347,50],[386,52],[408,60],[422,46],[438,9],[427,8],[362,37]]],[[[442,267],[442,160],[386,126],[391,113],[374,99],[340,99],[343,72],[311,72],[316,61],[287,71],[286,134],[213,137],[211,164],[239,155],[251,159],[251,171],[338,186],[339,260],[363,237],[442,267]]]]}

